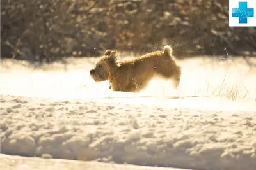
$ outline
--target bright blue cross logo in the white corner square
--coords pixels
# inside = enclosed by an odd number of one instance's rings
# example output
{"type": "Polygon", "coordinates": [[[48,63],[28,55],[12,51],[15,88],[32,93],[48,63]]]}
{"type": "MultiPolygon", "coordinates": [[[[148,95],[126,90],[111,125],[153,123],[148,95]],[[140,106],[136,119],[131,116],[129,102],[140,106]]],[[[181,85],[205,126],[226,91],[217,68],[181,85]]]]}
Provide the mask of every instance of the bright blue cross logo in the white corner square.
{"type": "Polygon", "coordinates": [[[239,24],[246,24],[248,17],[254,17],[254,10],[247,8],[247,2],[239,2],[238,8],[232,8],[232,17],[238,17],[239,24]]]}

